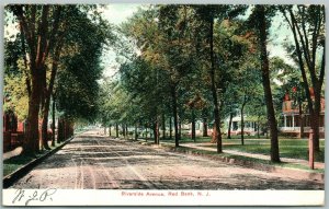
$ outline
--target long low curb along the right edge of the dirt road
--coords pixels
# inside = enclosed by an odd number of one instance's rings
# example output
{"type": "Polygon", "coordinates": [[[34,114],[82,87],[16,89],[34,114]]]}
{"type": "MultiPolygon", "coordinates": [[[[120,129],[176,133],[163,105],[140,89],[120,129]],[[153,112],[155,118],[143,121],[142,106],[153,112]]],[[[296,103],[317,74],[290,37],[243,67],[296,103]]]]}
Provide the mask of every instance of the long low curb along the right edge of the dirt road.
{"type": "Polygon", "coordinates": [[[298,179],[309,179],[309,181],[317,181],[317,182],[325,182],[325,174],[324,173],[313,173],[313,172],[307,172],[304,170],[298,170],[298,169],[291,169],[291,167],[280,167],[275,165],[266,165],[266,164],[261,164],[261,163],[256,163],[247,160],[240,160],[240,159],[235,159],[235,158],[229,158],[229,156],[218,156],[218,155],[209,155],[205,153],[201,153],[198,151],[192,151],[192,150],[177,150],[174,147],[163,147],[161,144],[157,146],[151,142],[143,142],[139,141],[141,146],[149,146],[149,147],[158,147],[162,148],[167,151],[170,152],[179,152],[179,153],[185,153],[190,155],[197,155],[197,156],[203,156],[216,161],[222,161],[228,164],[236,164],[240,165],[243,167],[248,169],[254,169],[254,170],[260,170],[260,171],[266,171],[271,173],[285,173],[287,177],[294,177],[298,179]]]}

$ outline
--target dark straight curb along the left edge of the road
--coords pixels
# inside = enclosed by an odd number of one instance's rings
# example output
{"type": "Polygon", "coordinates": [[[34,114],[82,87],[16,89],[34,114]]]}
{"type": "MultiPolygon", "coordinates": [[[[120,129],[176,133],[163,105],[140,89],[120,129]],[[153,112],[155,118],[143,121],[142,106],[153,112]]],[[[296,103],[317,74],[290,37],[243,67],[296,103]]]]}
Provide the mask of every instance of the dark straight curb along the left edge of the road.
{"type": "Polygon", "coordinates": [[[20,179],[21,177],[23,177],[24,175],[26,175],[31,170],[33,170],[33,167],[35,167],[36,165],[38,165],[42,161],[44,161],[46,158],[48,158],[49,155],[56,153],[58,150],[60,150],[64,146],[66,146],[68,142],[70,142],[76,136],[67,139],[66,141],[64,141],[60,146],[58,146],[57,148],[50,150],[49,152],[45,153],[44,155],[34,159],[33,161],[31,161],[30,163],[23,165],[22,167],[20,167],[19,170],[12,172],[11,174],[8,174],[7,176],[3,177],[3,183],[2,186],[3,188],[8,188],[10,187],[13,183],[15,183],[18,179],[20,179]]]}

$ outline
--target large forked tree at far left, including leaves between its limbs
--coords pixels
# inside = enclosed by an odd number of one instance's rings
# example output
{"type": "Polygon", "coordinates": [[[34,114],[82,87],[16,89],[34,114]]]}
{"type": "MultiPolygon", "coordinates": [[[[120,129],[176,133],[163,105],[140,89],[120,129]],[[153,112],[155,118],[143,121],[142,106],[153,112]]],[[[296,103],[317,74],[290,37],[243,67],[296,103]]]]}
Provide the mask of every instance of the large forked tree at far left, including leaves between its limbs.
{"type": "Polygon", "coordinates": [[[38,112],[43,83],[45,82],[45,63],[49,51],[57,45],[56,35],[60,19],[60,5],[9,5],[8,10],[16,16],[26,40],[30,62],[31,92],[29,96],[27,130],[23,152],[34,154],[38,150],[38,112]],[[52,21],[50,21],[52,20],[52,21]]]}

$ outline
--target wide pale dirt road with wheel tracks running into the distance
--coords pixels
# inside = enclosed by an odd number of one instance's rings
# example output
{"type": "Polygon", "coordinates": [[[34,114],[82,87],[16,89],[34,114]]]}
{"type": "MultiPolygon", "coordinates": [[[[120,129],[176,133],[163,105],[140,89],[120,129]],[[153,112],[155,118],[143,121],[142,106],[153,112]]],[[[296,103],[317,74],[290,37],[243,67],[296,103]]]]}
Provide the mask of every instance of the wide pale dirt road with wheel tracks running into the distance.
{"type": "Polygon", "coordinates": [[[89,131],[76,137],[11,188],[324,189],[325,185],[89,131]]]}

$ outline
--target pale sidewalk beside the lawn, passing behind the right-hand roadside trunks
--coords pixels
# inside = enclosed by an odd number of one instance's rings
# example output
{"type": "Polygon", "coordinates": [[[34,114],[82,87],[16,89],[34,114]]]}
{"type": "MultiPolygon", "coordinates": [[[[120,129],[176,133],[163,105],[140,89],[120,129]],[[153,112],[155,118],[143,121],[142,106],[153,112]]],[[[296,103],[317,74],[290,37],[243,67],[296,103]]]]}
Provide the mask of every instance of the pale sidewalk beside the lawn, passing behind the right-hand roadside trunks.
{"type": "MultiPolygon", "coordinates": [[[[209,148],[208,146],[212,144],[209,142],[207,143],[181,143],[181,147],[186,147],[186,148],[193,148],[197,150],[206,150],[206,151],[217,151],[216,148],[209,148]]],[[[264,155],[264,154],[256,154],[256,153],[248,153],[248,152],[240,152],[236,150],[223,150],[225,153],[229,154],[236,154],[236,155],[242,155],[242,156],[249,156],[253,159],[260,159],[260,160],[268,160],[270,161],[270,155],[264,155]]],[[[306,160],[299,160],[299,159],[288,159],[288,158],[281,158],[282,162],[287,162],[292,164],[299,164],[299,165],[306,165],[308,166],[308,161],[306,160]]],[[[315,169],[325,169],[325,163],[320,162],[315,162],[315,169]]]]}

